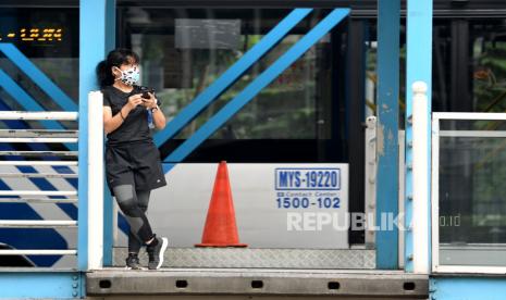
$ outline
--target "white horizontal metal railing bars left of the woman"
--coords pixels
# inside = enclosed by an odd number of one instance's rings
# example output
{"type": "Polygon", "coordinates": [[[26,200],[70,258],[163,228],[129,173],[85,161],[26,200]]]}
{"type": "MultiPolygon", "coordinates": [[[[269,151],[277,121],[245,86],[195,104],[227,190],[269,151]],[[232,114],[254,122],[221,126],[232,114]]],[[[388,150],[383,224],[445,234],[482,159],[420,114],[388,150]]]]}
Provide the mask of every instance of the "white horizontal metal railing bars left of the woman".
{"type": "MultiPolygon", "coordinates": [[[[0,120],[30,120],[30,121],[77,121],[77,112],[22,112],[0,111],[0,120]]],[[[77,130],[41,130],[41,129],[0,129],[0,142],[77,142],[77,130]]],[[[0,151],[0,155],[18,157],[77,157],[77,151],[0,151]]],[[[0,161],[0,166],[75,166],[77,161],[0,161]]],[[[0,173],[0,178],[71,178],[76,174],[51,173],[0,173]]],[[[75,203],[75,190],[0,190],[1,203],[75,203]],[[62,199],[47,197],[70,197],[62,199]]],[[[0,228],[54,228],[75,227],[77,221],[61,220],[0,220],[0,228]]],[[[0,250],[0,255],[76,255],[75,249],[9,249],[0,250]]]]}

